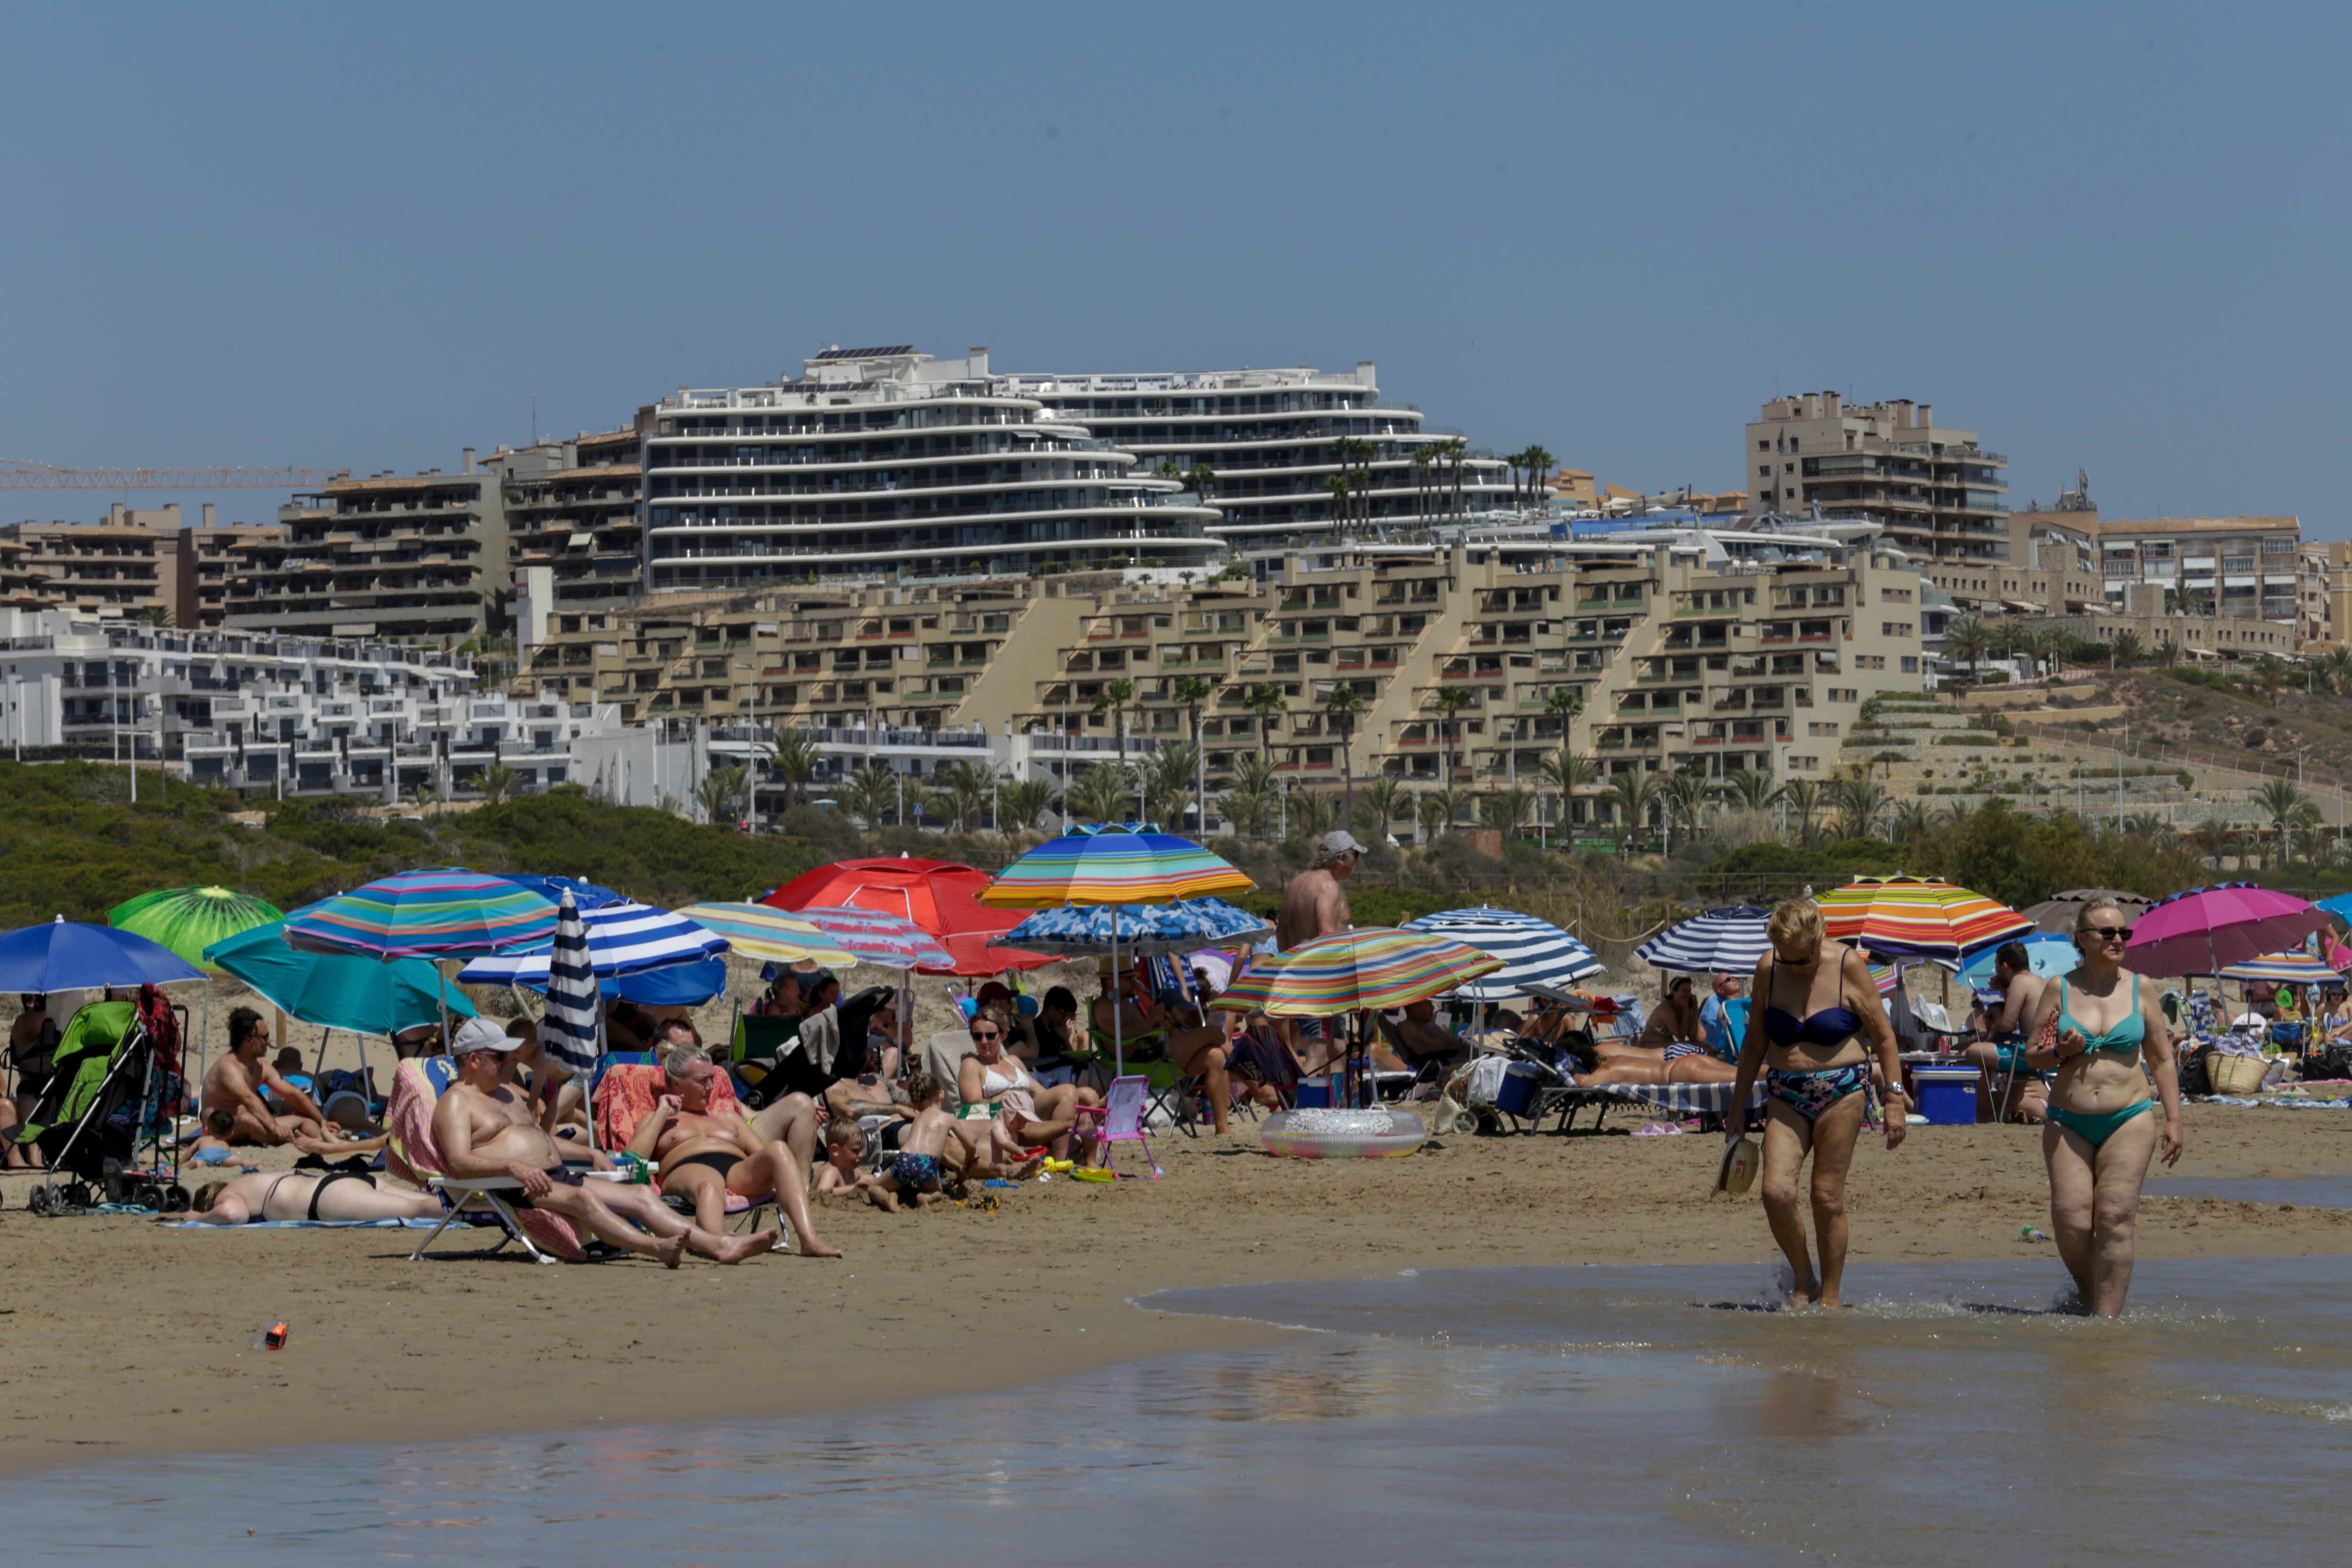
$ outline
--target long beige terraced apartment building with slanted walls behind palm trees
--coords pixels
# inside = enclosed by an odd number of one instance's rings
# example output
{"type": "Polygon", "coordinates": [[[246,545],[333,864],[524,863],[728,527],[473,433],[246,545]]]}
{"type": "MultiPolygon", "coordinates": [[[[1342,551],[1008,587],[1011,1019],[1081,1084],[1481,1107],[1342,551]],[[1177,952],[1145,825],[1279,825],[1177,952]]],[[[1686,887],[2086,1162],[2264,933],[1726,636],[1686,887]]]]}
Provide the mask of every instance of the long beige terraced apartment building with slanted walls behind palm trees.
{"type": "MultiPolygon", "coordinates": [[[[1684,766],[1825,778],[1863,701],[1922,686],[1919,567],[1870,541],[1677,529],[1334,545],[1258,569],[666,595],[555,616],[517,693],[614,703],[621,722],[1115,743],[1105,701],[1129,682],[1131,745],[1197,722],[1211,773],[1261,752],[1291,788],[1388,773],[1491,792],[1534,788],[1562,741],[1602,780],[1684,766]],[[1185,701],[1188,679],[1207,693],[1185,701]],[[1364,705],[1334,726],[1343,682],[1364,705]],[[1251,708],[1258,686],[1279,710],[1251,708]],[[1451,715],[1449,689],[1465,693],[1451,715]],[[1559,691],[1583,703],[1576,717],[1552,708],[1559,691]]],[[[1065,776],[1105,750],[1040,766],[1065,776]]]]}

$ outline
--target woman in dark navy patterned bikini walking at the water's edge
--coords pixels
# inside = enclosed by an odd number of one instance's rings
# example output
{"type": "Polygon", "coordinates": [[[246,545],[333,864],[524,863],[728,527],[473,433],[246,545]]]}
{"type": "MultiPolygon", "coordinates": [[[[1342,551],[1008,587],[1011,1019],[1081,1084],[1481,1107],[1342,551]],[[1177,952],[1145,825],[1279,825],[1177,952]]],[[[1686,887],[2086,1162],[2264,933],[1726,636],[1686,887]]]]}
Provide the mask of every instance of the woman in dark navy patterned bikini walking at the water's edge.
{"type": "Polygon", "coordinates": [[[1860,950],[1828,940],[1820,905],[1783,900],[1764,926],[1771,952],[1757,961],[1757,1006],[1748,1016],[1740,1072],[1726,1131],[1748,1131],[1748,1091],[1764,1070],[1764,1218],[1788,1253],[1792,1300],[1837,1307],[1846,1274],[1846,1166],[1863,1131],[1870,1056],[1886,1074],[1886,1147],[1903,1143],[1903,1065],[1896,1032],[1860,950]],[[1863,1037],[1867,1039],[1867,1046],[1863,1037]],[[1797,1213],[1797,1171],[1813,1157],[1813,1232],[1820,1274],[1797,1213]]]}

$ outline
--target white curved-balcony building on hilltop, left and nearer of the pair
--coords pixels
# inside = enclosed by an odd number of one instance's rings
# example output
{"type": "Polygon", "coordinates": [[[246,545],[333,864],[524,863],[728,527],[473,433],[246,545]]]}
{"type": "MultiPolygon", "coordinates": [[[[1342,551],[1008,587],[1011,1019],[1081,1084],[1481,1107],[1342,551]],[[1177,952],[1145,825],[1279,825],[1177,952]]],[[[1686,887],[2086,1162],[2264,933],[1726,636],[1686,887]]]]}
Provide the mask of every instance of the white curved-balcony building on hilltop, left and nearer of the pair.
{"type": "Polygon", "coordinates": [[[637,414],[647,588],[1209,567],[1216,508],[988,374],[988,350],[833,348],[637,414]]]}

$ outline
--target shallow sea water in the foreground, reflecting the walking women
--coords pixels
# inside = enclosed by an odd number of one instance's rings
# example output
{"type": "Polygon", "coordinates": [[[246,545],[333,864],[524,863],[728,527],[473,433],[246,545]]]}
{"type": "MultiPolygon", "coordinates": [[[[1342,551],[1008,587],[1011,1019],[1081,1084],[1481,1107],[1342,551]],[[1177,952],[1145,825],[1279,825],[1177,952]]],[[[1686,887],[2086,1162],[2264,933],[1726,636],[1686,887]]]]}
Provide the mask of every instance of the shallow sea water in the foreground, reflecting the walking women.
{"type": "Polygon", "coordinates": [[[186,1455],[0,1486],[9,1561],[2340,1563],[2352,1260],[1557,1267],[1174,1291],[1315,1328],[776,1422],[186,1455]]]}

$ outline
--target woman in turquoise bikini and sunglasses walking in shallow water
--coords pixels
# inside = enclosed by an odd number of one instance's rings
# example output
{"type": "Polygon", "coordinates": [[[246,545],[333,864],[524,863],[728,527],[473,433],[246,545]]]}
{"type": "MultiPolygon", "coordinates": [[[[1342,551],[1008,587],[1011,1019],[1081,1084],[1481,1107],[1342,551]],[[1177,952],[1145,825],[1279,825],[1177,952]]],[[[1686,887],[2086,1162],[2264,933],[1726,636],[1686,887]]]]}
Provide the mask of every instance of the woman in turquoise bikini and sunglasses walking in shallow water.
{"type": "Polygon", "coordinates": [[[2131,1227],[2150,1154],[2180,1159],[2180,1072],[2154,985],[2124,969],[2131,917],[2110,898],[2074,914],[2082,966],[2034,1006],[2025,1039],[2058,1016],[2058,1048],[2025,1060],[2056,1067],[2042,1157],[2051,1168],[2051,1232],[2084,1312],[2114,1316],[2131,1293],[2131,1227]],[[2147,1056],[2147,1072],[2140,1056],[2147,1056]],[[2147,1093],[2154,1074],[2157,1093],[2147,1093]],[[2161,1107],[2164,1119],[2157,1121],[2161,1107]]]}

